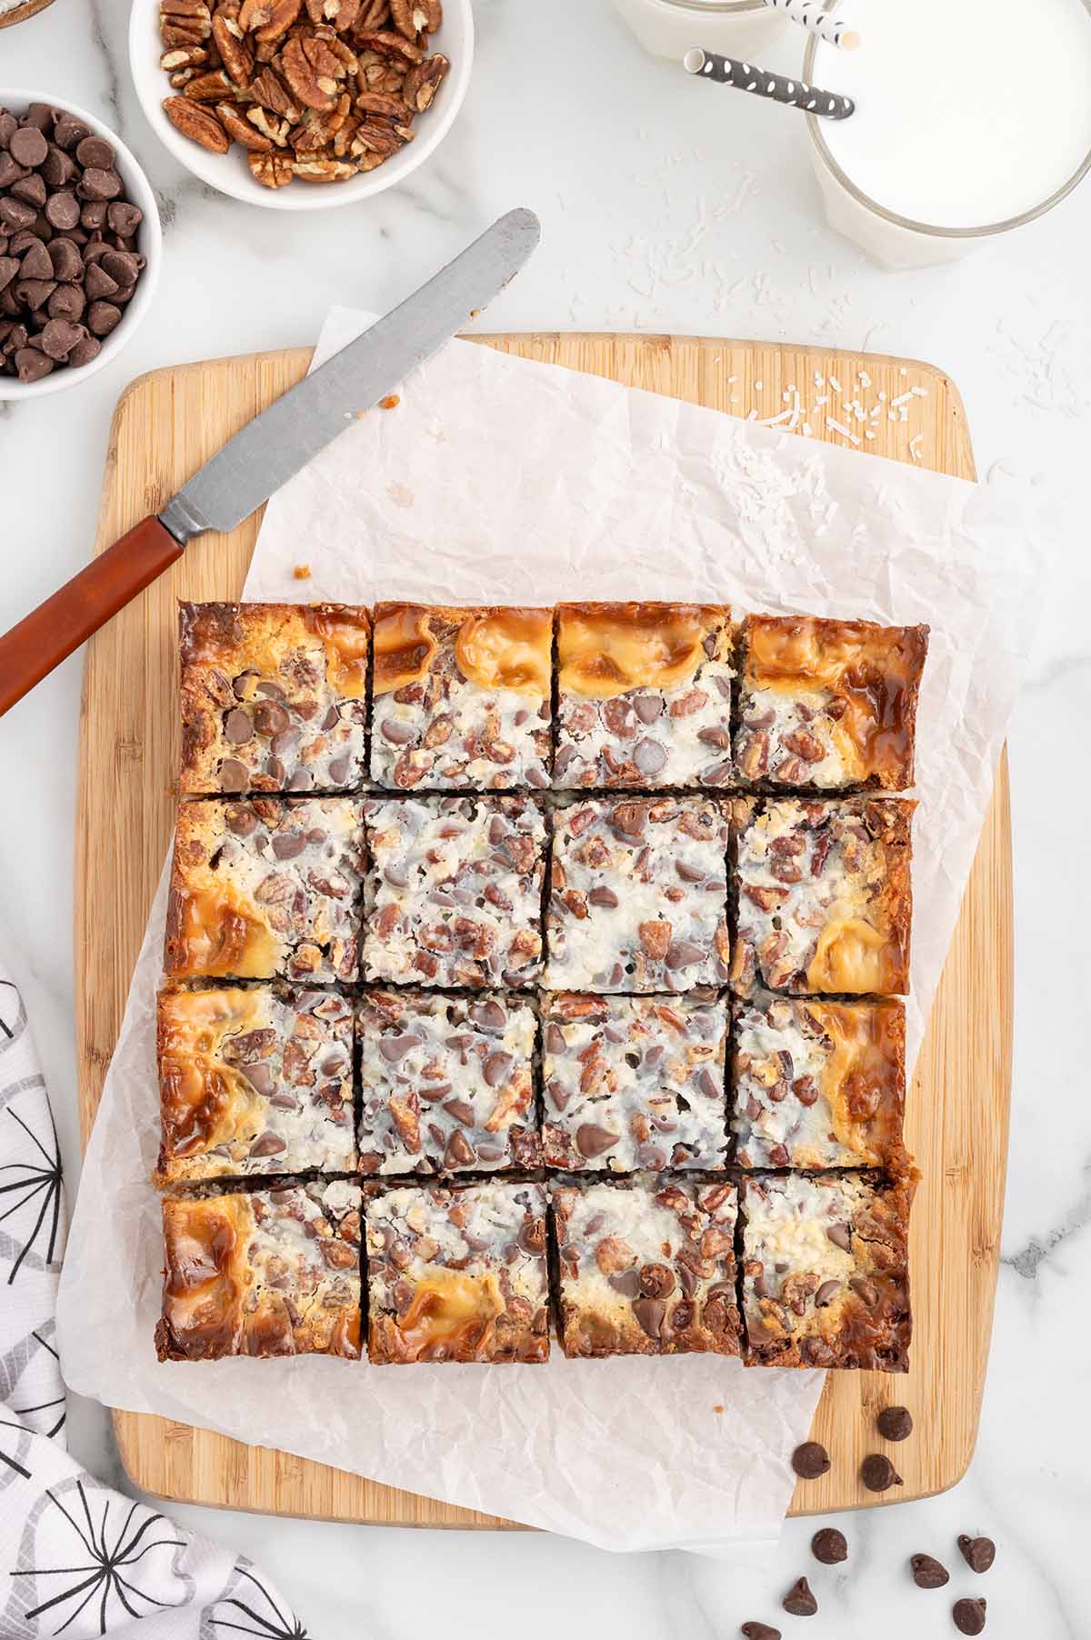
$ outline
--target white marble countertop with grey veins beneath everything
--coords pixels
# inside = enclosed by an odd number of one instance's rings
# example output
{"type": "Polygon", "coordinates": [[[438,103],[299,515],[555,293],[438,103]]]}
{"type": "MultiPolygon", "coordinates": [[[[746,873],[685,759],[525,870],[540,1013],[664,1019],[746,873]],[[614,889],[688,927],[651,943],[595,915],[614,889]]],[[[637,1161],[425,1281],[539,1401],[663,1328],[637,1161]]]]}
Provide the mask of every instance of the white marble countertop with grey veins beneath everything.
{"type": "MultiPolygon", "coordinates": [[[[179,1514],[264,1563],[323,1640],[440,1630],[459,1640],[512,1622],[522,1640],[551,1640],[558,1620],[579,1640],[725,1637],[750,1617],[774,1622],[801,1573],[820,1599],[812,1640],[865,1640],[879,1627],[892,1640],[953,1633],[947,1609],[956,1594],[988,1597],[986,1633],[996,1640],[1076,1637],[1086,1625],[1076,1525],[1091,1520],[1081,1392],[1091,1328],[1078,1297],[1091,1279],[1091,1104],[1057,1018],[1080,1014],[1091,961],[1081,922],[1058,917],[1058,902],[1078,899],[1086,820],[1080,804],[1057,797],[1058,774],[1070,792],[1086,779],[1078,748],[1091,720],[1086,533],[1075,544],[1091,433],[1091,187],[963,262],[883,272],[825,228],[804,131],[787,110],[699,92],[645,57],[605,0],[555,0],[548,23],[532,0],[474,0],[474,10],[469,98],[433,161],[369,203],[307,218],[233,203],[171,161],[130,85],[120,0],[66,0],[0,33],[0,84],[69,97],[118,130],[151,174],[166,228],[156,307],[123,356],[71,394],[0,405],[0,630],[85,561],[110,412],[133,376],[307,343],[331,303],[384,310],[510,205],[533,207],[545,239],[489,308],[491,330],[779,338],[947,369],[966,402],[981,477],[1042,485],[1068,513],[1073,543],[1011,733],[1016,1076],[981,1438],[952,1492],[842,1517],[842,1568],[810,1561],[809,1522],[787,1524],[765,1561],[720,1565],[681,1553],[610,1556],[535,1535],[179,1514]],[[1058,991],[1075,1007],[1058,1007],[1058,991]],[[1058,1118],[1043,1143],[1035,1135],[1047,1096],[1058,1118]],[[958,1532],[996,1538],[988,1578],[961,1568],[958,1532]],[[912,1586],[912,1551],[945,1560],[947,1591],[912,1586]]],[[[769,54],[771,66],[792,71],[801,52],[791,41],[769,54]]],[[[0,915],[28,971],[69,1189],[79,1171],[71,861],[80,667],[79,658],[66,663],[0,722],[0,915]]],[[[74,1407],[72,1445],[103,1478],[121,1479],[102,1409],[74,1407]]]]}

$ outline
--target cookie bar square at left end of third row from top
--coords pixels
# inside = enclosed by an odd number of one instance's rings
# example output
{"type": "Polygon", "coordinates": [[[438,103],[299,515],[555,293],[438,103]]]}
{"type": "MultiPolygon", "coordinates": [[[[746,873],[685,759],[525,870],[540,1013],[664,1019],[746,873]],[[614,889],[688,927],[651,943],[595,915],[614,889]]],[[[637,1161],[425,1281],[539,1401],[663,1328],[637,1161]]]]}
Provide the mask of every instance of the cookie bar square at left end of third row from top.
{"type": "Polygon", "coordinates": [[[353,1004],[333,991],[166,986],[159,1179],[353,1173],[353,1004]]]}

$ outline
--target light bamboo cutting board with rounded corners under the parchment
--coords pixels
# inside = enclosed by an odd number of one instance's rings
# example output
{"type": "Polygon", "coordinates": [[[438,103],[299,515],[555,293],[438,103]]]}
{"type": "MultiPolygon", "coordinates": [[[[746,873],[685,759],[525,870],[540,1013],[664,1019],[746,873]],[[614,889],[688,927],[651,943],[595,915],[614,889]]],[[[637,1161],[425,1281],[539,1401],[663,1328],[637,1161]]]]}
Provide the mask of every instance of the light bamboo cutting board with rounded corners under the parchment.
{"type": "MultiPolygon", "coordinates": [[[[975,476],[958,392],[927,364],[715,338],[530,335],[487,341],[712,408],[783,417],[781,425],[792,431],[802,433],[806,420],[812,436],[835,443],[855,430],[861,449],[975,476]],[[792,390],[814,405],[819,377],[833,379],[837,390],[827,387],[829,403],[815,405],[806,418],[794,417],[792,390]],[[868,405],[879,394],[886,394],[884,405],[909,402],[911,420],[902,421],[897,410],[883,413],[868,421],[874,438],[865,441],[863,423],[843,410],[856,392],[868,405]]],[[[304,374],[308,358],[295,349],[218,359],[133,382],[113,418],[95,551],[156,512],[231,433],[304,374]]],[[[258,523],[254,517],[230,536],[194,541],[87,649],[75,841],[84,1135],[98,1105],[174,822],[176,600],[238,597],[258,523]]],[[[799,1483],[792,1514],[878,1502],[860,1486],[858,1469],[865,1453],[883,1446],[874,1412],[891,1401],[911,1407],[915,1433],[892,1448],[904,1484],[886,1494],[886,1502],[942,1491],[970,1463],[1004,1197],[1011,992],[1011,833],[1001,764],[907,1104],[907,1141],[924,1173],[912,1214],[912,1371],[906,1378],[827,1376],[812,1433],[829,1448],[833,1466],[820,1481],[799,1483]]],[[[148,1099],[154,1097],[149,1087],[148,1099]]],[[[118,1412],[115,1425],[128,1474],[161,1497],[382,1525],[510,1525],[166,1419],[118,1412]]],[[[269,1433],[276,1435],[274,1419],[269,1433]]]]}

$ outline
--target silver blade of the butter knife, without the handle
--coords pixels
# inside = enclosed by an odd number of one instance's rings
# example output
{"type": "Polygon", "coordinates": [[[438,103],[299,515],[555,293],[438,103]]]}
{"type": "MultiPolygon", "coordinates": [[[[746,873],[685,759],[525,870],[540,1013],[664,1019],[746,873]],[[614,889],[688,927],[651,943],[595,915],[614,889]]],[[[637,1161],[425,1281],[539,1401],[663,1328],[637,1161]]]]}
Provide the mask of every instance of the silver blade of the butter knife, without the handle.
{"type": "Polygon", "coordinates": [[[541,238],[528,210],[494,221],[435,279],[240,428],[159,513],[176,541],[233,530],[468,325],[541,238]]]}

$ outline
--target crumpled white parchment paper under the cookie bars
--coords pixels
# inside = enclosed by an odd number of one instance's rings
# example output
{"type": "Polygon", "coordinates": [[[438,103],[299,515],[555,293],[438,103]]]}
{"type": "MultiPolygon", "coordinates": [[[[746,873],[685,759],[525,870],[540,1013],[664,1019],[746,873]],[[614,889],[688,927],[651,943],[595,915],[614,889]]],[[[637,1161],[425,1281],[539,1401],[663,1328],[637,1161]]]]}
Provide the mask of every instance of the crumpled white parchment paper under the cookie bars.
{"type": "MultiPolygon", "coordinates": [[[[318,362],[366,323],[333,310],[318,362]]],[[[929,622],[912,1061],[1045,559],[1012,485],[997,494],[451,343],[402,384],[395,408],[356,418],[274,497],[246,597],[712,599],[929,622]]],[[[72,1389],[604,1548],[753,1551],[773,1540],[820,1373],[559,1353],[545,1368],[156,1363],[161,1230],[148,1176],[164,902],[161,884],[69,1238],[57,1322],[72,1389]]]]}

